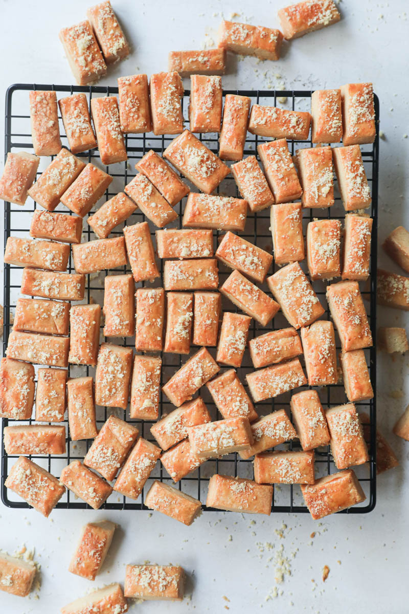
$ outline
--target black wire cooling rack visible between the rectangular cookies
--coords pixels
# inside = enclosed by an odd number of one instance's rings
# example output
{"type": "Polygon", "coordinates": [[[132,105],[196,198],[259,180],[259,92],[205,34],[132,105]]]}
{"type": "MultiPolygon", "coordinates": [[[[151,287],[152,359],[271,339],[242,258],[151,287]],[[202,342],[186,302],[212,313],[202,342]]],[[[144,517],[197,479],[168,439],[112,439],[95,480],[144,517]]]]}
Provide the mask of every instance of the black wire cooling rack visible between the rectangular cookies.
{"type": "MultiPolygon", "coordinates": [[[[68,96],[72,93],[76,92],[84,92],[88,95],[89,101],[93,96],[111,96],[117,95],[118,89],[115,87],[77,87],[72,85],[43,85],[43,84],[16,84],[12,85],[9,90],[7,90],[6,94],[6,142],[5,142],[5,153],[7,155],[10,151],[18,151],[18,150],[26,150],[30,152],[32,149],[31,142],[31,130],[29,123],[29,103],[28,103],[28,91],[29,90],[54,90],[56,91],[57,98],[63,98],[64,96],[68,96]]],[[[250,96],[252,104],[267,104],[270,106],[277,106],[277,101],[280,103],[280,106],[283,106],[287,109],[292,109],[296,111],[309,111],[310,110],[310,99],[312,95],[312,91],[245,91],[245,90],[231,90],[224,91],[223,97],[226,94],[240,94],[243,96],[250,96]],[[284,100],[286,98],[286,101],[284,100]]],[[[188,96],[189,91],[186,90],[182,99],[183,105],[183,115],[185,117],[185,124],[188,126],[188,96]]],[[[378,203],[378,119],[379,119],[379,101],[377,96],[375,96],[375,117],[376,117],[376,125],[377,125],[377,136],[375,138],[375,142],[373,145],[365,145],[361,146],[362,158],[364,160],[365,171],[367,174],[367,178],[372,191],[372,211],[371,216],[373,217],[373,230],[372,230],[372,255],[370,262],[370,290],[368,292],[364,292],[363,287],[361,288],[362,293],[364,294],[364,298],[367,300],[365,304],[368,309],[369,322],[372,329],[373,335],[373,347],[365,350],[365,355],[367,357],[367,361],[369,364],[370,378],[372,381],[373,389],[376,389],[376,352],[375,352],[375,321],[376,321],[376,302],[375,302],[375,290],[376,290],[376,275],[375,271],[377,269],[377,203],[378,203]]],[[[61,139],[63,141],[63,146],[67,145],[67,139],[64,132],[64,126],[61,121],[61,117],[59,118],[60,125],[60,134],[61,139]]],[[[110,165],[109,168],[106,167],[105,170],[109,173],[114,179],[112,184],[109,187],[109,190],[105,192],[106,198],[102,198],[97,206],[93,208],[91,212],[94,212],[95,209],[101,206],[102,202],[115,195],[116,193],[123,190],[124,185],[128,184],[131,181],[132,177],[136,174],[134,170],[134,165],[137,163],[142,156],[148,152],[148,150],[153,149],[155,152],[161,155],[172,141],[174,136],[154,136],[153,134],[128,134],[125,136],[126,141],[126,149],[128,151],[128,163],[118,163],[116,165],[110,165]]],[[[204,143],[216,154],[218,153],[218,135],[217,134],[201,134],[199,135],[201,141],[204,143]]],[[[245,144],[245,155],[257,155],[257,145],[259,142],[269,140],[266,138],[260,138],[258,136],[247,134],[247,141],[245,144]]],[[[292,154],[296,152],[297,149],[302,147],[312,147],[312,141],[289,141],[289,148],[292,154]]],[[[97,149],[90,150],[89,152],[79,153],[77,154],[79,157],[84,158],[86,162],[96,163],[97,166],[101,166],[101,162],[99,160],[99,152],[97,149]]],[[[41,158],[39,173],[42,173],[44,168],[50,163],[50,158],[41,158]]],[[[229,164],[229,163],[227,163],[229,164]]],[[[196,188],[193,187],[193,191],[196,191],[196,188]]],[[[220,187],[217,190],[217,193],[221,195],[229,195],[229,196],[238,196],[237,188],[235,187],[235,182],[232,176],[226,177],[226,179],[221,182],[220,187]]],[[[182,214],[185,206],[186,199],[183,199],[181,203],[178,203],[175,207],[175,210],[178,212],[179,217],[178,220],[175,220],[174,223],[170,225],[170,227],[182,227],[182,214]]],[[[36,209],[36,203],[32,201],[30,198],[26,202],[25,207],[19,208],[16,205],[5,203],[4,209],[4,241],[6,243],[7,238],[10,235],[13,236],[29,236],[29,225],[31,221],[32,212],[36,209]]],[[[56,211],[64,211],[67,213],[66,208],[62,204],[59,204],[56,211]]],[[[342,202],[340,200],[340,196],[338,194],[338,190],[336,187],[336,179],[335,179],[335,204],[329,209],[304,209],[303,210],[303,226],[304,233],[307,227],[308,222],[310,222],[313,218],[319,219],[343,219],[345,217],[345,211],[343,210],[342,202]]],[[[139,209],[132,214],[131,217],[128,218],[126,224],[134,224],[137,222],[142,222],[144,216],[139,209]]],[[[246,223],[246,228],[243,233],[240,233],[245,239],[248,239],[252,243],[262,247],[262,249],[266,249],[268,251],[272,251],[272,238],[269,230],[269,211],[261,211],[256,214],[248,214],[248,219],[246,223]]],[[[153,236],[153,240],[155,242],[155,227],[150,224],[151,227],[151,235],[153,236]]],[[[117,227],[113,230],[112,236],[121,235],[122,226],[117,227]]],[[[215,241],[215,249],[217,247],[219,241],[220,233],[218,231],[214,232],[214,241],[215,241]]],[[[96,239],[96,236],[93,235],[91,228],[84,221],[83,225],[83,238],[82,241],[90,241],[92,239],[96,239]]],[[[301,263],[303,268],[305,269],[305,263],[301,263]]],[[[72,264],[72,259],[69,260],[69,272],[74,271],[74,267],[72,264]]],[[[160,281],[156,280],[155,284],[137,284],[137,286],[159,286],[162,285],[162,273],[163,273],[163,263],[160,262],[159,267],[161,277],[160,281]]],[[[277,270],[275,263],[273,263],[273,271],[277,270]]],[[[9,332],[12,328],[12,313],[15,309],[15,303],[20,295],[20,287],[21,287],[21,268],[12,265],[4,266],[4,353],[7,346],[7,340],[9,338],[9,332]]],[[[269,274],[271,274],[270,271],[269,274]]],[[[110,274],[123,274],[130,273],[128,267],[123,267],[121,269],[116,269],[115,271],[110,271],[110,274]]],[[[227,270],[223,265],[220,265],[220,285],[224,282],[227,276],[231,271],[227,270]]],[[[107,271],[103,271],[101,274],[91,274],[86,276],[86,293],[85,293],[85,302],[90,303],[90,301],[96,301],[100,305],[103,305],[103,294],[104,294],[104,276],[107,274],[107,271]]],[[[335,280],[338,281],[338,280],[335,280]]],[[[326,284],[324,282],[314,282],[313,286],[315,288],[316,293],[318,294],[319,300],[326,308],[326,314],[323,316],[329,319],[329,311],[327,308],[325,291],[326,284]]],[[[269,290],[264,284],[262,289],[269,293],[269,290]]],[[[237,311],[234,305],[230,303],[230,301],[223,298],[223,311],[237,311]]],[[[273,322],[269,327],[263,328],[254,320],[252,321],[250,327],[249,338],[253,336],[260,335],[269,330],[273,330],[275,328],[283,328],[288,326],[288,322],[285,321],[285,318],[281,313],[278,313],[277,316],[273,319],[273,322]]],[[[101,324],[102,328],[102,324],[101,324]]],[[[101,340],[102,340],[102,331],[101,331],[101,340]]],[[[105,338],[106,340],[106,338],[105,338]]],[[[340,351],[340,343],[338,337],[337,340],[337,350],[340,351]]],[[[121,343],[123,346],[134,347],[134,338],[126,338],[124,340],[113,340],[113,343],[121,343]]],[[[197,351],[198,348],[191,348],[191,353],[197,351]]],[[[215,355],[215,349],[210,349],[213,356],[215,355]]],[[[175,354],[162,354],[163,368],[161,375],[161,384],[166,383],[167,379],[169,379],[170,375],[172,375],[182,363],[188,357],[178,356],[175,354]]],[[[302,358],[302,357],[301,357],[302,358]]],[[[224,368],[222,367],[222,371],[224,368]]],[[[37,368],[36,368],[37,371],[37,368]]],[[[253,365],[251,363],[250,354],[248,350],[245,352],[245,356],[243,358],[242,367],[239,368],[238,375],[240,380],[245,383],[245,374],[253,371],[253,365]]],[[[85,375],[94,375],[94,369],[91,367],[77,367],[70,365],[69,367],[69,376],[85,376],[85,375]]],[[[304,389],[307,386],[304,386],[304,389]]],[[[299,392],[297,389],[294,392],[299,392]]],[[[334,386],[324,386],[318,389],[319,397],[321,398],[321,402],[323,403],[324,408],[326,406],[334,406],[340,405],[342,403],[348,402],[346,399],[345,391],[343,388],[343,384],[339,383],[334,386]]],[[[208,394],[207,389],[204,387],[201,390],[201,395],[204,398],[206,405],[208,406],[210,413],[212,414],[213,419],[221,419],[221,416],[218,414],[214,403],[212,402],[212,398],[208,394]]],[[[260,415],[266,415],[272,411],[278,410],[280,408],[286,408],[289,411],[289,400],[291,398],[291,393],[280,395],[277,398],[270,400],[269,402],[258,403],[256,409],[260,415]]],[[[357,477],[361,482],[361,486],[364,489],[365,495],[367,499],[361,505],[356,505],[350,510],[346,510],[344,513],[365,513],[372,511],[375,507],[376,502],[376,467],[375,467],[375,429],[376,429],[376,416],[375,416],[375,398],[370,401],[364,401],[360,403],[356,403],[359,411],[365,411],[370,415],[370,445],[369,445],[369,453],[370,453],[370,461],[359,467],[354,467],[356,471],[357,477]]],[[[159,405],[160,415],[169,413],[172,411],[174,406],[169,403],[167,398],[161,394],[161,400],[159,405]]],[[[142,437],[147,438],[148,440],[155,441],[150,434],[150,427],[152,425],[151,421],[140,421],[140,420],[131,420],[129,419],[128,411],[123,410],[112,410],[112,408],[101,408],[97,407],[97,424],[99,427],[107,419],[111,413],[116,413],[120,418],[127,420],[128,422],[132,422],[136,424],[139,429],[140,435],[142,437]]],[[[4,419],[3,420],[3,428],[7,426],[7,424],[13,424],[14,421],[4,419]]],[[[31,424],[34,422],[33,420],[29,421],[21,421],[18,424],[31,424]]],[[[62,468],[73,461],[74,459],[79,459],[82,461],[83,457],[86,454],[86,451],[91,445],[90,440],[85,441],[71,441],[69,437],[69,431],[67,426],[67,419],[60,424],[66,424],[67,429],[67,453],[64,456],[33,456],[32,459],[48,471],[50,471],[53,475],[58,477],[61,473],[62,468]]],[[[288,444],[284,444],[281,446],[277,446],[276,449],[300,449],[298,441],[290,442],[288,444]]],[[[4,445],[2,443],[1,448],[2,454],[2,463],[1,463],[1,495],[2,501],[7,505],[7,507],[12,508],[28,508],[29,506],[23,502],[17,495],[14,495],[13,492],[7,491],[4,486],[4,481],[9,473],[10,467],[16,461],[17,456],[8,456],[4,450],[4,445]]],[[[321,477],[323,475],[327,475],[329,473],[334,473],[337,469],[335,468],[334,461],[329,452],[329,446],[324,446],[323,448],[319,448],[315,453],[315,470],[316,475],[321,477]]],[[[220,459],[209,460],[205,462],[196,472],[189,474],[181,480],[177,486],[183,492],[187,494],[191,494],[197,499],[200,499],[202,503],[205,503],[205,498],[207,495],[207,485],[209,478],[213,475],[213,473],[223,473],[226,475],[235,475],[240,477],[253,478],[253,465],[251,461],[243,461],[237,454],[229,454],[228,456],[224,456],[220,459]]],[[[161,480],[169,484],[173,484],[172,479],[167,474],[166,471],[162,468],[160,462],[156,464],[155,470],[151,473],[150,479],[145,485],[145,492],[153,480],[161,480]]],[[[118,493],[113,492],[113,494],[109,497],[107,502],[104,505],[105,509],[109,510],[117,510],[117,509],[127,509],[127,510],[146,510],[147,508],[143,505],[143,491],[137,501],[126,499],[123,496],[118,495],[118,493]]],[[[66,508],[66,509],[82,509],[87,508],[85,502],[81,500],[75,500],[74,495],[67,491],[64,494],[63,498],[59,501],[58,508],[66,508]]],[[[213,508],[207,508],[204,505],[204,510],[212,510],[213,508]]],[[[306,512],[308,511],[304,505],[304,501],[302,499],[302,495],[300,493],[300,488],[298,485],[277,485],[274,488],[273,495],[273,504],[272,504],[273,512],[306,512]]]]}

